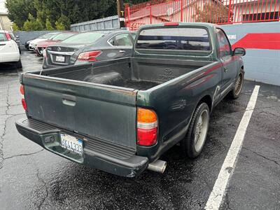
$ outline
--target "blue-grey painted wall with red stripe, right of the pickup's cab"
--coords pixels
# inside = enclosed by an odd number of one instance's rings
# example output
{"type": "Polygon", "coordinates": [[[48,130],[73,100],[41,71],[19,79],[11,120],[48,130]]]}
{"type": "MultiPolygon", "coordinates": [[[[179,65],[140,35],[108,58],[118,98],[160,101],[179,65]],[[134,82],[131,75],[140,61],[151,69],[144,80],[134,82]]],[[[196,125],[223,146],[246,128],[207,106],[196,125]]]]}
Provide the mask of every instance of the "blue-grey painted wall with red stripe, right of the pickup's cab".
{"type": "Polygon", "coordinates": [[[235,47],[246,48],[246,79],[280,85],[280,22],[243,23],[221,27],[235,47]]]}

